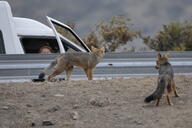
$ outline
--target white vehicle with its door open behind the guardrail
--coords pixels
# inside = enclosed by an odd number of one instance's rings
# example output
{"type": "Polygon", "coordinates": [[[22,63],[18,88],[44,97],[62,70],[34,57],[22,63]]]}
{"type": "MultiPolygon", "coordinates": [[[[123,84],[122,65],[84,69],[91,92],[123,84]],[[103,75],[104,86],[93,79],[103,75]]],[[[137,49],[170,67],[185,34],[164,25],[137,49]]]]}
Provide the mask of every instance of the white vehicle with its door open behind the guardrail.
{"type": "Polygon", "coordinates": [[[8,2],[0,1],[0,18],[0,54],[38,53],[45,45],[54,53],[65,53],[69,49],[90,52],[69,26],[51,17],[47,16],[50,27],[32,19],[13,17],[8,2]]]}

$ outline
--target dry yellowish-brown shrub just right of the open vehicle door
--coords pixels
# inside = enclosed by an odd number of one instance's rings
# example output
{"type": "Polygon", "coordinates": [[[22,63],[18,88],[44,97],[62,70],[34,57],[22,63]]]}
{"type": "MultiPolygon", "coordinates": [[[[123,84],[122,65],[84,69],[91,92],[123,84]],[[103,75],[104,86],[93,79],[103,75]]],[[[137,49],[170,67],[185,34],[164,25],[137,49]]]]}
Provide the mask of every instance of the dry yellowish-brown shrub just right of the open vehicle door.
{"type": "Polygon", "coordinates": [[[90,32],[83,40],[91,46],[104,45],[108,51],[115,51],[120,45],[132,41],[139,34],[138,31],[131,30],[130,20],[125,16],[112,17],[108,22],[100,22],[95,30],[90,32]]]}

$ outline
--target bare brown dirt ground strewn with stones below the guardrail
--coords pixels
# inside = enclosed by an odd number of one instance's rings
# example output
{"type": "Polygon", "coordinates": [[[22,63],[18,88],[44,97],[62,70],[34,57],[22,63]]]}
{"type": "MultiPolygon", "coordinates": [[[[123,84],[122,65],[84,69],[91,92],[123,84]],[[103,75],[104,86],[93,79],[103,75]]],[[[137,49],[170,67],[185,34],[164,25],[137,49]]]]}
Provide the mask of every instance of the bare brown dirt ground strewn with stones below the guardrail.
{"type": "Polygon", "coordinates": [[[1,128],[190,128],[192,76],[176,76],[180,97],[158,107],[144,98],[155,77],[0,83],[1,128]]]}

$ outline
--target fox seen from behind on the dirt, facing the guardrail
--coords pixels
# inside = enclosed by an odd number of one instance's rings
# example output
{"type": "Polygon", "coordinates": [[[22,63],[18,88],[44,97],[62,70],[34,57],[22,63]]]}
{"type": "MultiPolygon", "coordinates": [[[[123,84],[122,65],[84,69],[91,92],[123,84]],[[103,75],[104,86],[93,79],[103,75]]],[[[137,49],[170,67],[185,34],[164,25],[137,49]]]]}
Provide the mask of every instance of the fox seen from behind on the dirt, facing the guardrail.
{"type": "Polygon", "coordinates": [[[145,102],[149,103],[152,100],[156,100],[156,106],[159,105],[159,101],[162,98],[163,93],[166,93],[167,102],[169,105],[173,105],[170,100],[170,94],[174,91],[175,97],[179,97],[176,91],[174,82],[174,73],[171,64],[168,62],[169,54],[161,55],[158,54],[156,60],[156,69],[159,69],[159,76],[157,79],[156,90],[148,97],[145,98],[145,102]]]}

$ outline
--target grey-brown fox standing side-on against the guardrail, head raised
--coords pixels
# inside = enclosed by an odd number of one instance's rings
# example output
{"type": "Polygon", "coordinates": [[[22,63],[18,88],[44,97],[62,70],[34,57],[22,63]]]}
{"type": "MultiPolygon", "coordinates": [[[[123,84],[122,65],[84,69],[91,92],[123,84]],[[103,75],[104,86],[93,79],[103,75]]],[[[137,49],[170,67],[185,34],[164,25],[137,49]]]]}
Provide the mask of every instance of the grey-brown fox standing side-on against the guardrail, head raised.
{"type": "Polygon", "coordinates": [[[58,56],[56,60],[39,74],[39,79],[43,79],[45,74],[53,69],[54,71],[48,76],[48,80],[51,80],[64,71],[66,71],[67,80],[70,80],[73,67],[79,66],[85,71],[88,80],[92,80],[93,69],[105,55],[105,48],[91,47],[91,50],[91,53],[71,52],[58,56]]]}

